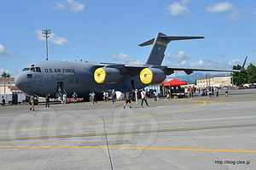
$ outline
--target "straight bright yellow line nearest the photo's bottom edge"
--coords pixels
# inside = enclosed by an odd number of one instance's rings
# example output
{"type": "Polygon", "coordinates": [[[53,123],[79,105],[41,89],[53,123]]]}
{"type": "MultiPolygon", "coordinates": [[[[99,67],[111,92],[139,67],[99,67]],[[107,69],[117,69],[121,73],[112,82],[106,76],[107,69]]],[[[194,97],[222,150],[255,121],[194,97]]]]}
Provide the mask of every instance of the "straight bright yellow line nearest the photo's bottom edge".
{"type": "Polygon", "coordinates": [[[121,150],[189,150],[189,151],[226,151],[226,152],[251,152],[256,150],[214,150],[214,149],[189,149],[189,148],[144,148],[144,147],[113,147],[113,146],[0,146],[0,148],[64,148],[64,149],[121,149],[121,150]]]}

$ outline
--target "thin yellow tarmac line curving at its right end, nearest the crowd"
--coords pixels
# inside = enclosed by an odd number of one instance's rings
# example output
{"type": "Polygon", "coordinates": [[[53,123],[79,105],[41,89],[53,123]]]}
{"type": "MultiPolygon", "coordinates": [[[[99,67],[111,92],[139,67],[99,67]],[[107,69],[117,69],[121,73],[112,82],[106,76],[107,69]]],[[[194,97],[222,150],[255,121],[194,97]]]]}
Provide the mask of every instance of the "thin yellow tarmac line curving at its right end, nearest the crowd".
{"type": "MultiPolygon", "coordinates": [[[[202,104],[202,105],[195,106],[195,107],[183,109],[183,110],[166,111],[166,112],[163,112],[163,113],[155,113],[155,114],[151,114],[151,115],[133,116],[133,117],[120,118],[120,119],[112,119],[112,120],[108,120],[108,121],[104,121],[104,122],[122,121],[122,120],[135,119],[135,118],[141,118],[141,117],[146,117],[146,116],[158,116],[158,115],[164,115],[164,114],[167,114],[167,113],[174,113],[174,112],[178,112],[178,111],[189,111],[189,110],[196,109],[196,108],[202,107],[202,106],[204,106],[204,105],[207,105],[207,102],[205,102],[205,101],[200,101],[200,102],[203,103],[203,104],[202,104]]],[[[103,121],[98,121],[98,122],[103,122],[103,121]]],[[[68,124],[68,125],[53,126],[53,127],[26,128],[26,129],[20,129],[20,130],[2,131],[2,132],[0,132],[0,133],[10,133],[10,132],[17,132],[17,131],[29,131],[29,130],[38,130],[38,129],[55,128],[55,127],[70,127],[70,126],[79,126],[79,125],[93,124],[93,123],[97,123],[97,122],[84,122],[84,123],[68,124]]]]}

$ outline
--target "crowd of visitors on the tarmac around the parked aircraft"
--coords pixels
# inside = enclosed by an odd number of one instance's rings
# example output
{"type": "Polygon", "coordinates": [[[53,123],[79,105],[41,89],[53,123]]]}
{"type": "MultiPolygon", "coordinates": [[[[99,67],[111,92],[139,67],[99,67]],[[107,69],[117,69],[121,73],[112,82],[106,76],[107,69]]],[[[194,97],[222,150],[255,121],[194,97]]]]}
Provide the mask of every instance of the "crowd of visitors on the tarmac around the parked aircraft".
{"type": "MultiPolygon", "coordinates": [[[[228,89],[224,88],[224,95],[225,97],[228,96],[228,89]]],[[[67,103],[67,94],[62,92],[62,89],[59,88],[58,89],[59,92],[59,99],[61,100],[61,104],[66,104],[67,103]]],[[[166,95],[165,95],[165,99],[168,99],[172,97],[172,94],[183,94],[183,97],[185,98],[193,98],[195,96],[196,93],[198,93],[199,97],[202,96],[208,96],[209,98],[212,97],[212,95],[215,95],[216,97],[218,97],[219,94],[219,88],[218,87],[207,87],[207,88],[194,88],[194,87],[172,87],[171,90],[170,89],[166,89],[166,95]]],[[[138,99],[141,99],[141,108],[143,108],[143,104],[145,103],[145,105],[148,105],[148,97],[154,97],[154,101],[157,101],[160,97],[161,93],[157,93],[155,89],[150,89],[149,91],[145,91],[145,89],[141,89],[141,90],[132,90],[131,92],[127,89],[125,92],[125,104],[124,104],[124,109],[126,107],[126,105],[129,105],[129,107],[131,108],[132,103],[136,103],[138,104],[138,99]]],[[[197,95],[197,94],[196,94],[197,95]]],[[[163,95],[164,96],[164,95],[163,95]]],[[[118,99],[117,93],[116,91],[113,89],[111,93],[108,93],[108,91],[103,91],[102,92],[102,97],[104,102],[108,102],[109,100],[112,101],[112,105],[116,106],[116,102],[118,99]]],[[[49,94],[46,94],[45,96],[45,107],[49,107],[49,94]]],[[[34,100],[37,99],[37,97],[32,94],[30,97],[30,111],[35,111],[34,109],[34,100]]],[[[72,95],[72,99],[73,99],[73,104],[77,103],[78,100],[78,94],[76,94],[76,92],[73,92],[72,95]]],[[[92,105],[97,104],[96,101],[96,93],[95,92],[90,92],[89,93],[89,99],[90,99],[90,103],[92,105]]],[[[4,98],[2,97],[2,102],[4,101],[4,98]]],[[[3,102],[4,103],[4,102],[3,102]]],[[[5,105],[3,105],[5,106],[5,105]]]]}

